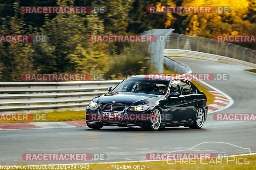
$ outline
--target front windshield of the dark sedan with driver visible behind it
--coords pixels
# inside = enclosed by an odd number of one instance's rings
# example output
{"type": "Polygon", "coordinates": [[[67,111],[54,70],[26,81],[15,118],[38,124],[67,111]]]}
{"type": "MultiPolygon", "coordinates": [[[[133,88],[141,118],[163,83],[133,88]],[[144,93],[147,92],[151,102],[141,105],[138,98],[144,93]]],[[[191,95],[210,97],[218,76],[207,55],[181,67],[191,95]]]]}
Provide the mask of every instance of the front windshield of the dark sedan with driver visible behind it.
{"type": "Polygon", "coordinates": [[[136,92],[164,95],[169,81],[147,80],[145,78],[126,78],[113,92],[136,92]]]}

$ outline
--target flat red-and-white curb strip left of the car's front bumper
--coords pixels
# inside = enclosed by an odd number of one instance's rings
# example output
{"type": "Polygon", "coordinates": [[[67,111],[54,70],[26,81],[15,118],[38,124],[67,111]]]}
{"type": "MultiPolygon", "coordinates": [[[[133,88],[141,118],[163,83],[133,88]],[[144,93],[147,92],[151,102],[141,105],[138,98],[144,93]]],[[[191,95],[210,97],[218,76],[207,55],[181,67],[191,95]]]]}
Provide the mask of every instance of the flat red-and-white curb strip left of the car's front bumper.
{"type": "Polygon", "coordinates": [[[85,127],[85,126],[87,126],[85,121],[32,122],[32,123],[0,123],[0,130],[74,128],[74,127],[85,127]]]}

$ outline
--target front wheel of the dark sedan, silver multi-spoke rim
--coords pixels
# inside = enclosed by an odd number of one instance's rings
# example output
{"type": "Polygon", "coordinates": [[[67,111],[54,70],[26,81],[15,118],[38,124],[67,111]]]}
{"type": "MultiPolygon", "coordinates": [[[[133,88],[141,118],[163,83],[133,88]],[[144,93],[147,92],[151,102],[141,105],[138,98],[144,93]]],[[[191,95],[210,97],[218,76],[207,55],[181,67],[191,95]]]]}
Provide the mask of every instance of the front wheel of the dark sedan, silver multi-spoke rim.
{"type": "Polygon", "coordinates": [[[152,111],[152,118],[154,118],[154,119],[152,119],[151,121],[148,122],[147,130],[148,131],[157,131],[161,126],[161,112],[159,109],[156,108],[152,111]]]}

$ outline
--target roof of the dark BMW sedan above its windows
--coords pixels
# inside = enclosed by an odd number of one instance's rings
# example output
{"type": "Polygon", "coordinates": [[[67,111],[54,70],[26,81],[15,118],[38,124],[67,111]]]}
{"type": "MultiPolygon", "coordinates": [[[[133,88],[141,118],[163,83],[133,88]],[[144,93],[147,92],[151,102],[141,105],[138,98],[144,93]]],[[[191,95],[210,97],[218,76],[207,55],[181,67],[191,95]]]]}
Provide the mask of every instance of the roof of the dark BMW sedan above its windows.
{"type": "Polygon", "coordinates": [[[130,76],[130,77],[128,77],[128,78],[147,78],[147,79],[150,79],[150,78],[152,78],[152,76],[153,76],[153,80],[167,80],[167,81],[172,81],[172,80],[174,80],[174,79],[177,79],[177,80],[186,80],[186,81],[188,81],[188,82],[190,82],[188,79],[186,79],[186,78],[180,78],[180,77],[174,77],[174,76],[164,76],[164,75],[162,75],[162,74],[144,74],[144,75],[142,75],[142,74],[138,74],[138,75],[133,75],[133,76],[130,76]]]}

